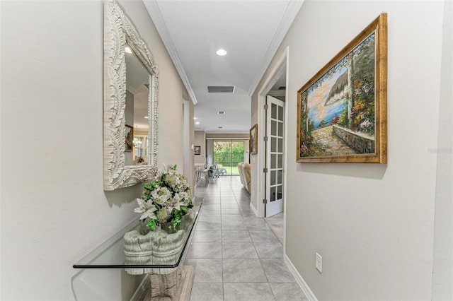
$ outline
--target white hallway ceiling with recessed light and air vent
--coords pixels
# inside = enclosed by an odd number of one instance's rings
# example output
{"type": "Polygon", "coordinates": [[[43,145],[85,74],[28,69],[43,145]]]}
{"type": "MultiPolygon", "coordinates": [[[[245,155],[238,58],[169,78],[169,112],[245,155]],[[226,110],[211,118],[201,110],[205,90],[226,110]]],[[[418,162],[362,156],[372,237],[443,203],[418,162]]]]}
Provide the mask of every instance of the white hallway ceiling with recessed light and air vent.
{"type": "Polygon", "coordinates": [[[195,103],[195,130],[248,133],[251,95],[302,3],[144,0],[195,103]],[[223,57],[220,48],[228,52],[223,57]],[[234,93],[208,93],[209,85],[233,85],[234,93]]]}

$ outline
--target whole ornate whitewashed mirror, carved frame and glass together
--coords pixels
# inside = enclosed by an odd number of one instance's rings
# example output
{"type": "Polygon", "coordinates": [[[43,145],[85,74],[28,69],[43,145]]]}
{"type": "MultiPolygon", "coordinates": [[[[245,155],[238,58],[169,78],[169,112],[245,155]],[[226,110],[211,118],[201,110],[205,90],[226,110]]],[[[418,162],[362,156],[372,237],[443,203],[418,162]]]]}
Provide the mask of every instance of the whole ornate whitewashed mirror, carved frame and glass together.
{"type": "Polygon", "coordinates": [[[104,1],[104,190],[156,173],[159,73],[114,0],[104,1]]]}

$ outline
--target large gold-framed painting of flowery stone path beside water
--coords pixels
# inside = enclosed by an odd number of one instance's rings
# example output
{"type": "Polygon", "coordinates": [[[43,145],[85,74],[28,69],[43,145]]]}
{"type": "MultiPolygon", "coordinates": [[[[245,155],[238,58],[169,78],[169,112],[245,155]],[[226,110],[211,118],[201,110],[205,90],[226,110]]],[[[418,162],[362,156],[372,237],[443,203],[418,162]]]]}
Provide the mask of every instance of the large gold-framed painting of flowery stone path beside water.
{"type": "Polygon", "coordinates": [[[298,91],[297,162],[386,163],[386,15],[298,91]]]}

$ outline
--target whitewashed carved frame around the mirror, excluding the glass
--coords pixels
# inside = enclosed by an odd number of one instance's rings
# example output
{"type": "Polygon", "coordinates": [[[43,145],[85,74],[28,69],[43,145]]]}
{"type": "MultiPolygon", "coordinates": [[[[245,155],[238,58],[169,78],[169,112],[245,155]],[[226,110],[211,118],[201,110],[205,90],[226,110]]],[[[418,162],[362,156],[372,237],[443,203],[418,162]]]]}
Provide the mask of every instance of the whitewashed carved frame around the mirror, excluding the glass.
{"type": "Polygon", "coordinates": [[[159,71],[147,45],[114,0],[104,1],[104,190],[141,183],[157,171],[159,71]],[[149,71],[148,165],[125,165],[125,44],[149,71]]]}

